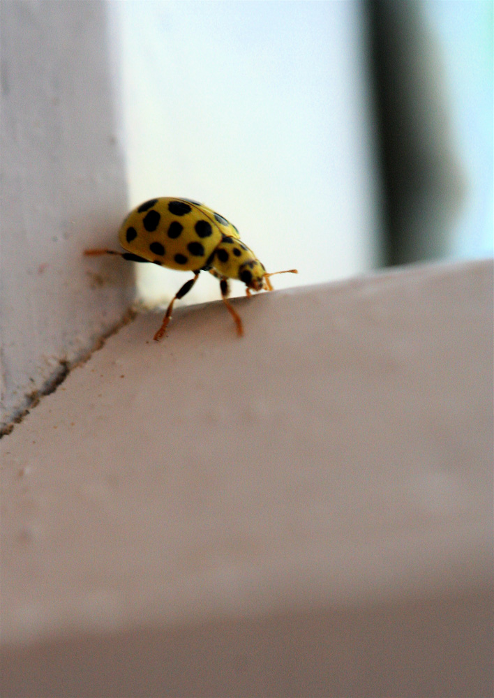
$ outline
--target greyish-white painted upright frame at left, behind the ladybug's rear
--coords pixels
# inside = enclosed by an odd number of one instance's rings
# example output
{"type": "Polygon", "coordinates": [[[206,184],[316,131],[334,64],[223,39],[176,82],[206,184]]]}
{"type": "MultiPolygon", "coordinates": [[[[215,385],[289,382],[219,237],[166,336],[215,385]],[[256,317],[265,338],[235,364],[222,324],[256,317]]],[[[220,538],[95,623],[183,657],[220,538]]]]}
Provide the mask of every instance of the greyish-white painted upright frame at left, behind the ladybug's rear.
{"type": "Polygon", "coordinates": [[[0,429],[129,303],[130,265],[82,257],[126,212],[109,55],[105,3],[1,3],[0,429]]]}

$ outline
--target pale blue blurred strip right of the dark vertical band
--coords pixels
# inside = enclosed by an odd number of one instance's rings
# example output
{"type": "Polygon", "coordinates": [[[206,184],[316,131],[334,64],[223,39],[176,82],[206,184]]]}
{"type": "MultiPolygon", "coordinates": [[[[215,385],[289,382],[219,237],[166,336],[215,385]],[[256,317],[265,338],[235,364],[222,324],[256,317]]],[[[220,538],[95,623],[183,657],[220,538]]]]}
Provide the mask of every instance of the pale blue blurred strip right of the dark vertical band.
{"type": "Polygon", "coordinates": [[[427,0],[428,31],[444,65],[444,94],[451,133],[465,177],[464,201],[451,225],[449,248],[456,258],[494,252],[493,3],[427,0]]]}

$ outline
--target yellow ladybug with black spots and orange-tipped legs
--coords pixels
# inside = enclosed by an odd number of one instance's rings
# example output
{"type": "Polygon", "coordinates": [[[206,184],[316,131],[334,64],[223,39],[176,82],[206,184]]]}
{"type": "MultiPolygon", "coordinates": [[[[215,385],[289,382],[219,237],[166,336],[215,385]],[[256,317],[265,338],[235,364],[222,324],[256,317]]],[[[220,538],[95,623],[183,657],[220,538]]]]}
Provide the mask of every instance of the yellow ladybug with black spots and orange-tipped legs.
{"type": "Polygon", "coordinates": [[[159,341],[172,318],[174,302],[190,291],[200,272],[209,272],[220,281],[221,297],[237,327],[237,334],[244,334],[242,321],[228,301],[228,279],[239,279],[250,291],[273,290],[264,265],[253,251],[241,242],[239,231],[226,218],[216,214],[204,204],[190,199],[160,197],[144,202],[130,211],[123,221],[119,241],[126,252],[96,249],[86,250],[86,255],[120,255],[133,262],[152,262],[160,267],[193,272],[172,298],[163,323],[154,335],[159,341]]]}

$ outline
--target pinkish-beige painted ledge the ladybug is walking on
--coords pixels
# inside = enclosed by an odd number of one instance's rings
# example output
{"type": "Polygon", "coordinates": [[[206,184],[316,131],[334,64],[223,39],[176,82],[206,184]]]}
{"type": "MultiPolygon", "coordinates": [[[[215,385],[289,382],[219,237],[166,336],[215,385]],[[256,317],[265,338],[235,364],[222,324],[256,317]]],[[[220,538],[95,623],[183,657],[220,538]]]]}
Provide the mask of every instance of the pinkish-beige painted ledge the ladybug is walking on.
{"type": "Polygon", "coordinates": [[[243,339],[141,315],[71,371],[1,440],[3,695],[484,695],[492,267],[235,299],[243,339]]]}

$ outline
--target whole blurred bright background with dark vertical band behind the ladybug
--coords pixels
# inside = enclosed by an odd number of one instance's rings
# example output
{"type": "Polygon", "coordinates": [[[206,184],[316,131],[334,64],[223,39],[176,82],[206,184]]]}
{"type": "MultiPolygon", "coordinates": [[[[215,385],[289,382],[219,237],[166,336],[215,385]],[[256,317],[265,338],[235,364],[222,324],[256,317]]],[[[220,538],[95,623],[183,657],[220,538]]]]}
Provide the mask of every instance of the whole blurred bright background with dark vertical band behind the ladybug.
{"type": "MultiPolygon", "coordinates": [[[[269,271],[299,268],[277,288],[493,254],[491,1],[108,11],[130,207],[206,203],[269,271]]],[[[202,276],[188,302],[219,297],[202,276]]],[[[137,279],[149,304],[183,283],[152,265],[137,279]]]]}

